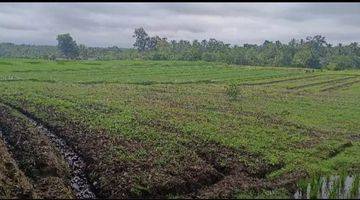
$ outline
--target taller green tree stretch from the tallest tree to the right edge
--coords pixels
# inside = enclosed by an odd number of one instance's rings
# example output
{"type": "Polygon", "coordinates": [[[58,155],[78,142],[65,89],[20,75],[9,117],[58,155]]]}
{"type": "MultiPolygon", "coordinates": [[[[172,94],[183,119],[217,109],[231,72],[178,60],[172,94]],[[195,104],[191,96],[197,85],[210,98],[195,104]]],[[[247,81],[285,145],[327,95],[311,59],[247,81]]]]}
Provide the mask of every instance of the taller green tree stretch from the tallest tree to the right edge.
{"type": "Polygon", "coordinates": [[[149,36],[143,28],[135,29],[134,47],[139,56],[150,60],[204,60],[238,65],[359,69],[360,46],[333,46],[321,35],[292,39],[288,43],[264,41],[263,44],[226,44],[216,39],[171,40],[149,36]]]}

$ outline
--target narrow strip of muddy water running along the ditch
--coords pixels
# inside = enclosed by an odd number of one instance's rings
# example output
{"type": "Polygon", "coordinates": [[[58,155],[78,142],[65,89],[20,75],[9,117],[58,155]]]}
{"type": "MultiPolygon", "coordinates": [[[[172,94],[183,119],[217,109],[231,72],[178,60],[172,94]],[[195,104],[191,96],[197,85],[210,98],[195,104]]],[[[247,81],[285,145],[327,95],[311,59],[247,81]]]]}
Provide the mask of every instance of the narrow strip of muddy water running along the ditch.
{"type": "Polygon", "coordinates": [[[57,135],[49,131],[43,125],[37,123],[35,120],[28,118],[29,121],[35,125],[41,133],[45,134],[49,140],[59,149],[64,156],[66,162],[71,169],[71,186],[76,193],[77,198],[94,199],[95,194],[91,191],[91,186],[86,179],[85,163],[81,157],[76,154],[66,143],[57,135]]]}

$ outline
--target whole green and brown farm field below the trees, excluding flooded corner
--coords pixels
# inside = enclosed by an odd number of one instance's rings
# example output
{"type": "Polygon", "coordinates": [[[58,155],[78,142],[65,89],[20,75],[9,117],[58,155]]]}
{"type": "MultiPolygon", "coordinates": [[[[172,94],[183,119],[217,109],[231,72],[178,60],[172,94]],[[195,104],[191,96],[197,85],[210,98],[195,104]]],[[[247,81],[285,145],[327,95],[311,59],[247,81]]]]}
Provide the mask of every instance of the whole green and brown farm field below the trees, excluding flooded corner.
{"type": "Polygon", "coordinates": [[[360,172],[359,100],[357,71],[0,60],[0,197],[292,197],[360,172]]]}

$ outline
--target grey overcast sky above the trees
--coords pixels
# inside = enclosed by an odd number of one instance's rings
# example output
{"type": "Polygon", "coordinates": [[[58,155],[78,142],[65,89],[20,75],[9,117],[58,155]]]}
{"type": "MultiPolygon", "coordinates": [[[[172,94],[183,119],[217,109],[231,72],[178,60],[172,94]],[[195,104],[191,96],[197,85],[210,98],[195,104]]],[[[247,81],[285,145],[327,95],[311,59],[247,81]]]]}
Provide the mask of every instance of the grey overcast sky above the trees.
{"type": "Polygon", "coordinates": [[[135,28],[175,39],[230,44],[288,42],[321,34],[360,42],[360,3],[0,3],[0,42],[132,47],[135,28]]]}

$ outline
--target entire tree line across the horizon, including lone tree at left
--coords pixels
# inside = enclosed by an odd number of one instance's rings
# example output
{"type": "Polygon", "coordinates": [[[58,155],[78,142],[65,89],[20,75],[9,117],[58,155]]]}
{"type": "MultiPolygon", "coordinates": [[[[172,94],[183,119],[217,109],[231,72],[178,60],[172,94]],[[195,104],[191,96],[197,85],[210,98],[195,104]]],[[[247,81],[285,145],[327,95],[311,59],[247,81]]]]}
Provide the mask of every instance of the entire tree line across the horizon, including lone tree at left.
{"type": "Polygon", "coordinates": [[[57,47],[0,43],[0,57],[44,59],[140,59],[224,62],[237,65],[327,68],[332,70],[359,69],[360,47],[328,43],[321,35],[292,39],[288,43],[268,41],[257,44],[230,45],[216,39],[170,40],[149,36],[143,28],[133,35],[134,49],[117,46],[101,48],[78,45],[69,33],[57,36],[57,47]]]}

